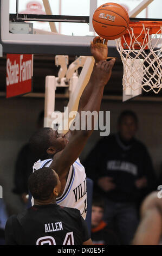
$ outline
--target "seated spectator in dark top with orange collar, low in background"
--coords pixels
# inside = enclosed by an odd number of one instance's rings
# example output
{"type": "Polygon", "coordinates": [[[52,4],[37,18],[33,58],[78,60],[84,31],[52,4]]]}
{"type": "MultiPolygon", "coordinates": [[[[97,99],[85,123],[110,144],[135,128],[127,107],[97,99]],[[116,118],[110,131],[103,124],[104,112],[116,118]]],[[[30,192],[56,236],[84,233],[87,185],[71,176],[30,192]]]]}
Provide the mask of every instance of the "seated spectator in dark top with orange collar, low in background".
{"type": "Polygon", "coordinates": [[[94,199],[92,203],[91,239],[94,245],[119,245],[112,228],[103,221],[105,204],[102,199],[94,199]]]}

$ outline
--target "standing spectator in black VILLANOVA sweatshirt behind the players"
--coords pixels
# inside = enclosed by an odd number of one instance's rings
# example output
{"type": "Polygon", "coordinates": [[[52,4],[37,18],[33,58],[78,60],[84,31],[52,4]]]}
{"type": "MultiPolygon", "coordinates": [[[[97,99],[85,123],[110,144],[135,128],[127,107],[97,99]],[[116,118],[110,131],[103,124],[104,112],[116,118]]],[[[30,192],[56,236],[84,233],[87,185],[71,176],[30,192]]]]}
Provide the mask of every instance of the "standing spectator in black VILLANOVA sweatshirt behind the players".
{"type": "Polygon", "coordinates": [[[135,139],[138,118],[124,111],[118,119],[118,133],[101,139],[85,161],[94,190],[106,200],[105,220],[116,227],[123,245],[129,245],[137,228],[138,205],[156,189],[150,155],[135,139]]]}

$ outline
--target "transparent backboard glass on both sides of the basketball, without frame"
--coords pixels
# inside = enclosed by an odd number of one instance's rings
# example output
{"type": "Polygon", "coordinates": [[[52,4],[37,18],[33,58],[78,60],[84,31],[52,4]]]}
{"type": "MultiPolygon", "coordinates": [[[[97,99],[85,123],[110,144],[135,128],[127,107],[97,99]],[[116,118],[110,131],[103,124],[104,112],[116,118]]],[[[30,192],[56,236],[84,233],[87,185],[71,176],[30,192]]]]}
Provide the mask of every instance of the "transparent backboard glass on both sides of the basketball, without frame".
{"type": "MultiPolygon", "coordinates": [[[[57,16],[55,18],[55,31],[59,34],[70,35],[70,36],[88,36],[94,35],[92,22],[90,21],[93,15],[93,11],[100,5],[108,2],[105,0],[36,0],[36,1],[16,1],[10,0],[10,14],[29,14],[29,15],[40,15],[35,17],[41,19],[41,15],[46,15],[44,19],[48,19],[48,14],[57,16]],[[50,10],[48,9],[50,7],[50,10]],[[48,13],[48,12],[51,13],[48,13]],[[60,18],[59,18],[60,16],[60,18]],[[66,22],[68,16],[79,16],[80,22],[66,22]],[[64,17],[66,17],[64,19],[64,17]],[[62,18],[62,19],[61,19],[62,18]],[[89,19],[90,18],[90,19],[89,19]],[[63,22],[59,22],[64,20],[63,22]]],[[[161,19],[160,8],[158,3],[160,0],[112,0],[110,2],[119,3],[126,8],[129,13],[129,17],[137,17],[143,19],[161,19]]],[[[70,18],[70,17],[69,17],[70,18]]],[[[69,19],[70,20],[70,19],[69,19]]],[[[51,27],[48,22],[35,22],[34,27],[42,29],[44,31],[51,32],[51,27]]]]}

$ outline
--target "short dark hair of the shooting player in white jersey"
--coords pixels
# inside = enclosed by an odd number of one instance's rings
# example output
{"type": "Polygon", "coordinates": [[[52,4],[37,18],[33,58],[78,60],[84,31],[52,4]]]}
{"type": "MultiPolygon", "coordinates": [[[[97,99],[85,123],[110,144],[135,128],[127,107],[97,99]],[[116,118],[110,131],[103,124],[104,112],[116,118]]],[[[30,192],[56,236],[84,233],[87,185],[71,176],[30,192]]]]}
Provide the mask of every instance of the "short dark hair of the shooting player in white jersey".
{"type": "Polygon", "coordinates": [[[41,128],[29,140],[30,150],[38,159],[44,160],[49,158],[47,149],[51,146],[50,131],[51,129],[48,127],[41,128]]]}

